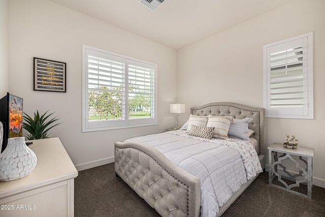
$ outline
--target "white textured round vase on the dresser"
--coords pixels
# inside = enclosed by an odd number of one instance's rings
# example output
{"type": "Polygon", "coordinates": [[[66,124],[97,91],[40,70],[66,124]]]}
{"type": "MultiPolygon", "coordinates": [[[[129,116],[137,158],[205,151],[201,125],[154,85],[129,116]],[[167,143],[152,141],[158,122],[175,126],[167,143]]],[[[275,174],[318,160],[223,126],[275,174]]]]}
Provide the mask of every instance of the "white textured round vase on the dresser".
{"type": "Polygon", "coordinates": [[[37,157],[25,144],[25,137],[8,139],[6,149],[0,154],[0,180],[12,181],[31,173],[37,164],[37,157]]]}

